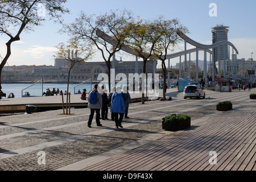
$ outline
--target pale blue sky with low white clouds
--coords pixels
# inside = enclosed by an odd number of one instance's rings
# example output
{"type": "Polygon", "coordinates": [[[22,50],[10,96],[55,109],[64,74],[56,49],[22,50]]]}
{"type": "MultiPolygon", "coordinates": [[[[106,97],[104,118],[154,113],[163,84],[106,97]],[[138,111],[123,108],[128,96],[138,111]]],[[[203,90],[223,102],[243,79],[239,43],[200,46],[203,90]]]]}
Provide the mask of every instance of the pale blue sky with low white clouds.
{"type": "MultiPolygon", "coordinates": [[[[116,9],[130,10],[142,19],[154,19],[159,15],[165,19],[177,18],[189,30],[186,35],[201,44],[212,44],[211,27],[223,24],[229,26],[228,39],[238,49],[238,59],[247,60],[252,56],[256,60],[255,0],[67,0],[65,7],[70,10],[70,14],[63,16],[65,23],[72,22],[81,11],[88,15],[100,15],[116,9]],[[211,3],[215,3],[215,6],[210,6],[211,3]]],[[[22,32],[21,40],[11,46],[12,53],[6,65],[54,65],[55,46],[69,39],[58,33],[60,27],[53,21],[46,21],[43,26],[34,27],[33,32],[22,32]]],[[[6,53],[7,41],[7,36],[0,35],[2,57],[6,53]]],[[[187,44],[187,49],[190,48],[194,47],[187,44]]],[[[181,42],[170,54],[183,50],[184,43],[181,42]]],[[[124,61],[135,60],[134,56],[123,52],[117,54],[116,59],[119,60],[120,57],[124,61]]],[[[191,54],[191,59],[195,59],[195,53],[191,54]]],[[[199,60],[203,60],[202,51],[199,52],[199,60]]],[[[103,59],[97,54],[91,61],[103,59]]],[[[179,58],[170,60],[171,65],[178,62],[179,58]]]]}

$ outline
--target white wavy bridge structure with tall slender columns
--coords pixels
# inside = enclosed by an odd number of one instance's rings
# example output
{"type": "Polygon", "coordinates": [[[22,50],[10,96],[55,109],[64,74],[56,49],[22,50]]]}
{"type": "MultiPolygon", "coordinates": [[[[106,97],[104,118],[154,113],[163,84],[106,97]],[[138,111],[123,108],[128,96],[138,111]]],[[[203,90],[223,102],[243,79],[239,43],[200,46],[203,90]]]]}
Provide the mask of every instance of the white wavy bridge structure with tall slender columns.
{"type": "MultiPolygon", "coordinates": [[[[113,46],[117,45],[117,42],[111,38],[109,35],[106,35],[104,32],[102,32],[101,30],[97,29],[96,34],[102,38],[103,40],[105,40],[106,42],[110,43],[113,46]]],[[[185,34],[183,34],[182,31],[177,30],[177,34],[184,40],[185,42],[185,50],[181,51],[181,52],[177,52],[177,53],[173,53],[170,55],[167,55],[167,59],[169,61],[168,63],[168,71],[170,71],[170,59],[173,59],[175,57],[179,57],[179,77],[182,76],[181,74],[181,56],[185,57],[184,60],[184,64],[185,64],[185,69],[184,69],[184,76],[186,79],[190,80],[190,65],[189,65],[189,74],[187,72],[187,55],[189,54],[189,64],[190,64],[190,54],[193,52],[196,52],[196,81],[198,82],[198,52],[199,51],[204,51],[204,66],[203,66],[203,78],[205,79],[205,82],[207,81],[207,53],[210,54],[210,71],[209,71],[209,76],[211,76],[213,78],[213,84],[214,84],[214,77],[217,76],[217,67],[216,67],[216,63],[214,60],[218,60],[218,65],[221,65],[221,60],[220,60],[220,54],[218,55],[214,55],[214,49],[217,48],[218,52],[220,52],[219,50],[221,49],[220,47],[223,46],[224,47],[224,57],[226,58],[226,54],[228,55],[228,60],[224,59],[224,68],[223,68],[223,75],[224,77],[231,77],[232,80],[235,80],[235,84],[237,84],[237,80],[238,80],[238,74],[237,74],[237,54],[238,54],[238,50],[237,48],[235,48],[235,46],[229,42],[229,41],[221,41],[215,44],[211,44],[211,45],[205,45],[205,44],[201,44],[198,42],[195,42],[194,40],[190,39],[189,37],[187,37],[185,34]],[[188,49],[187,50],[187,43],[191,44],[192,46],[195,46],[195,48],[193,49],[188,49]],[[226,50],[226,46],[228,46],[228,49],[226,50]],[[232,50],[232,65],[230,65],[230,47],[233,49],[232,50]],[[235,51],[235,54],[234,54],[235,51]],[[235,55],[235,56],[234,56],[235,55]],[[214,59],[215,56],[218,56],[218,59],[214,59]],[[212,61],[211,61],[212,60],[212,61]],[[227,67],[226,67],[227,65],[227,67]],[[227,70],[226,70],[227,68],[227,70]],[[228,75],[226,75],[226,72],[228,73],[228,75]]],[[[138,73],[138,53],[134,52],[132,49],[127,48],[127,47],[121,47],[121,49],[127,53],[130,53],[131,55],[136,56],[136,60],[135,60],[135,73],[138,73]]],[[[115,59],[115,56],[113,56],[113,60],[115,59]]],[[[114,61],[113,61],[113,65],[112,67],[114,68],[114,61]]],[[[154,61],[154,68],[155,68],[155,61],[154,61]]],[[[255,69],[255,67],[254,67],[255,69]]],[[[155,70],[154,70],[155,73],[155,70]]],[[[168,86],[170,86],[170,80],[169,80],[169,72],[168,72],[168,86]]],[[[221,69],[218,69],[218,77],[221,76],[221,69]]],[[[255,75],[254,75],[255,77],[255,75]]],[[[207,82],[206,82],[207,84],[207,82]]]]}

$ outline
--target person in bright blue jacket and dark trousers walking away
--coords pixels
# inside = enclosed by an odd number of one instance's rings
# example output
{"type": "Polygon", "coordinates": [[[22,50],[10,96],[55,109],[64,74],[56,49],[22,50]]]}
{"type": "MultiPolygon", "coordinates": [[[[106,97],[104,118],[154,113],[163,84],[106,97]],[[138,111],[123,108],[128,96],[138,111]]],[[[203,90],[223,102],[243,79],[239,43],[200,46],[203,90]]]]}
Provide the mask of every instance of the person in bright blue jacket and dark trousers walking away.
{"type": "Polygon", "coordinates": [[[115,88],[115,93],[112,95],[110,112],[114,113],[115,116],[115,128],[123,127],[122,121],[123,115],[125,115],[125,102],[123,101],[121,88],[119,86],[115,88]]]}

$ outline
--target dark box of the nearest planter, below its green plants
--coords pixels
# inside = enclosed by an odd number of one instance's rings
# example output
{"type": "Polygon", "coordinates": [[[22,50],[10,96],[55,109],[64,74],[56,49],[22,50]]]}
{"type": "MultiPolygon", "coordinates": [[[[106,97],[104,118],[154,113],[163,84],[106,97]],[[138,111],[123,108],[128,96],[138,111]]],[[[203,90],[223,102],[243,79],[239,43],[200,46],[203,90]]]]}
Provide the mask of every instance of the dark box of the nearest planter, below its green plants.
{"type": "Polygon", "coordinates": [[[167,131],[184,130],[189,128],[190,126],[191,126],[191,119],[187,119],[185,121],[174,121],[171,123],[164,123],[164,121],[162,121],[162,128],[163,130],[167,130],[167,131]]]}

